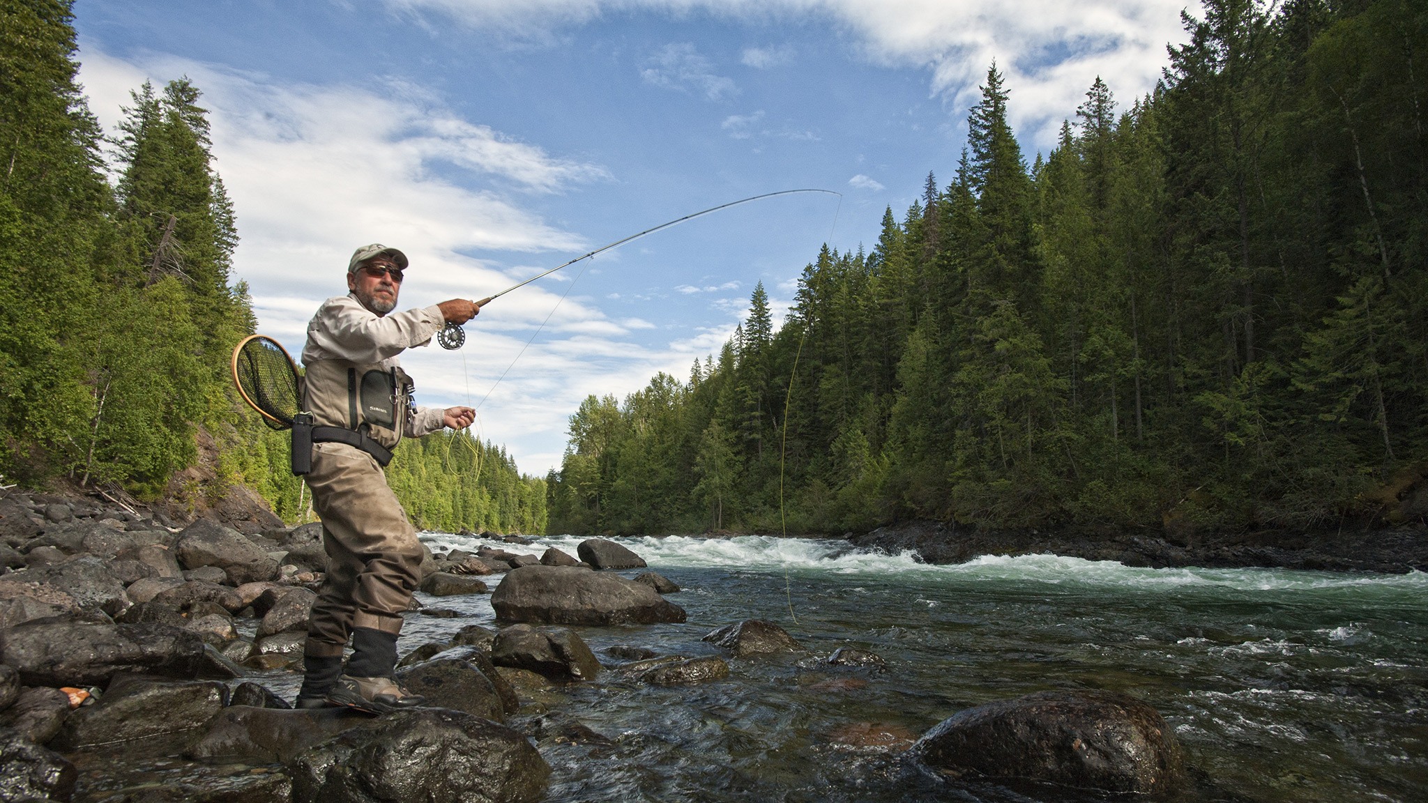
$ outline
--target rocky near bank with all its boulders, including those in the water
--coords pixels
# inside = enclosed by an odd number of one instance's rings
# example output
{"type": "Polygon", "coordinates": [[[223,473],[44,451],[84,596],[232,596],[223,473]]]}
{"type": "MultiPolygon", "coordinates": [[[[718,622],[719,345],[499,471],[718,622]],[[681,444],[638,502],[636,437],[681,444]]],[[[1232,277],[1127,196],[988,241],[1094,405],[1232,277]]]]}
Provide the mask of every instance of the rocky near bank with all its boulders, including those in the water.
{"type": "MultiPolygon", "coordinates": [[[[484,594],[477,577],[500,574],[490,602],[504,624],[457,620],[450,637],[401,659],[400,680],[430,707],[383,717],[291,710],[250,677],[301,654],[324,563],[320,526],[170,524],[86,499],[0,500],[0,802],[537,800],[551,773],[538,746],[611,743],[578,712],[551,712],[547,690],[603,674],[617,679],[610,689],[688,689],[768,660],[820,667],[830,690],[845,690],[887,669],[851,647],[811,654],[763,620],[708,632],[711,647],[690,654],[620,646],[597,656],[561,624],[683,623],[684,609],[664,599],[681,589],[651,572],[617,574],[645,563],[608,540],[583,542],[577,556],[487,546],[423,563],[423,590],[434,596],[484,594]]],[[[912,747],[908,767],[950,779],[1117,792],[1184,780],[1164,720],[1134,699],[1051,693],[984,709],[915,744],[878,723],[838,739],[912,747]],[[1097,744],[1095,766],[1068,757],[1067,740],[1097,744]]]]}

